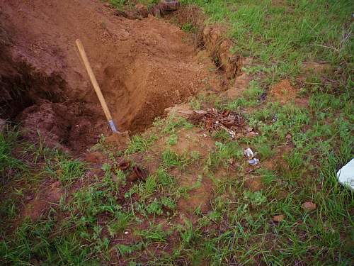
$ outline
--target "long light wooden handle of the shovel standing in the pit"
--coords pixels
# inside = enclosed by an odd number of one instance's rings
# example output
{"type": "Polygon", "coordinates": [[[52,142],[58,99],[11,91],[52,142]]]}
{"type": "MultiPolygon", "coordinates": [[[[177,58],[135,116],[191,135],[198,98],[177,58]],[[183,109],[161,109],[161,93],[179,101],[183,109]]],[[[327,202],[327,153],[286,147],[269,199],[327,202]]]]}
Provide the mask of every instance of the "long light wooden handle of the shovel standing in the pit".
{"type": "Polygon", "coordinates": [[[81,40],[79,40],[79,39],[76,40],[76,45],[77,45],[77,48],[79,49],[79,54],[81,56],[81,59],[84,62],[84,65],[86,67],[87,74],[89,74],[93,89],[95,89],[95,92],[98,96],[98,100],[100,101],[102,109],[105,112],[105,117],[107,118],[108,122],[112,121],[112,116],[110,115],[110,111],[108,109],[108,106],[105,103],[105,99],[103,98],[101,89],[98,86],[98,82],[96,80],[95,74],[93,74],[89,59],[86,56],[84,45],[82,45],[81,40]]]}

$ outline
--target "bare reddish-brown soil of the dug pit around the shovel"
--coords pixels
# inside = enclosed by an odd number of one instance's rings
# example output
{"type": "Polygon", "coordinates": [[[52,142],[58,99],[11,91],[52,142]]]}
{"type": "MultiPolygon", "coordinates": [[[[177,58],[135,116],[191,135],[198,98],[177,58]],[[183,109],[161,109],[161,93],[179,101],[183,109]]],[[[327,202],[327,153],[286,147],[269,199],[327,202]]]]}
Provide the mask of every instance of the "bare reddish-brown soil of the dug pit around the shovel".
{"type": "Polygon", "coordinates": [[[162,19],[115,16],[99,0],[0,0],[0,6],[0,83],[11,103],[3,113],[11,113],[19,99],[18,111],[34,104],[18,120],[45,128],[44,137],[70,149],[93,144],[107,131],[76,38],[122,130],[144,130],[211,77],[195,59],[188,35],[162,19]],[[16,97],[15,85],[25,93],[16,97]]]}

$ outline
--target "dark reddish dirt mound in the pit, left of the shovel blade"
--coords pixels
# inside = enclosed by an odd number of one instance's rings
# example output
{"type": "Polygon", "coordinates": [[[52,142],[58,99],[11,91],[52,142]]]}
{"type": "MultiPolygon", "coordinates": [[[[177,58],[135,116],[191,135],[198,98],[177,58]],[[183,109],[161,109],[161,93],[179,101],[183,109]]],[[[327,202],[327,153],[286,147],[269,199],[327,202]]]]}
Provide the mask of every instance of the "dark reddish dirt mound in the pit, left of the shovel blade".
{"type": "Polygon", "coordinates": [[[109,133],[101,109],[79,102],[35,104],[25,109],[17,120],[23,136],[50,148],[82,151],[97,143],[101,133],[109,133]]]}

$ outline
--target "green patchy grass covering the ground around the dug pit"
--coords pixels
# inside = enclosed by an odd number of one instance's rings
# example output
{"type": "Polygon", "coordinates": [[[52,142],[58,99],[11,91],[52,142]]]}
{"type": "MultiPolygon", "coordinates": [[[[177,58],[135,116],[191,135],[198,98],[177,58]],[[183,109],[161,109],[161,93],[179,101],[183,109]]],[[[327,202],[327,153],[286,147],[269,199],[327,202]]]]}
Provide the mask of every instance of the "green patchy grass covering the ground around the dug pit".
{"type": "Polygon", "coordinates": [[[354,194],[336,180],[354,155],[350,1],[182,2],[201,6],[207,23],[224,23],[234,52],[255,59],[244,69],[253,81],[239,99],[199,95],[190,106],[238,111],[258,135],[232,140],[221,130],[207,137],[215,142],[210,153],[176,153],[178,133],[200,128],[185,118],[159,118],[90,176],[80,160],[25,143],[16,130],[1,133],[0,264],[353,265],[354,194]],[[297,82],[310,61],[329,62],[336,71],[297,82]],[[299,87],[308,107],[261,99],[283,78],[299,87]],[[251,172],[246,147],[261,160],[251,172]],[[117,168],[127,157],[156,171],[130,184],[131,170],[117,168]],[[196,181],[183,187],[191,175],[196,181]],[[37,221],[20,220],[25,196],[48,180],[61,183],[62,199],[37,221]],[[261,182],[261,190],[249,180],[261,182]],[[205,182],[212,187],[208,210],[187,214],[179,200],[192,202],[205,182]],[[304,211],[306,201],[316,209],[304,211]],[[274,222],[275,215],[284,219],[274,222]]]}

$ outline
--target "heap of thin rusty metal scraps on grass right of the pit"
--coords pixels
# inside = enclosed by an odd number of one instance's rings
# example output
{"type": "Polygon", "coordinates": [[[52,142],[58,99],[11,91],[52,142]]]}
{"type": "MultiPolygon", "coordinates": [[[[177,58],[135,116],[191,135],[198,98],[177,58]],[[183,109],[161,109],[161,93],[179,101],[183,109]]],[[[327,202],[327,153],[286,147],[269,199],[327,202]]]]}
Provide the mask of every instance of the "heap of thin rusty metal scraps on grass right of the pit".
{"type": "Polygon", "coordinates": [[[194,124],[202,124],[205,131],[218,131],[224,129],[229,132],[231,138],[236,138],[237,128],[244,126],[244,118],[234,111],[217,111],[207,109],[207,111],[193,111],[189,116],[189,121],[194,124]]]}

